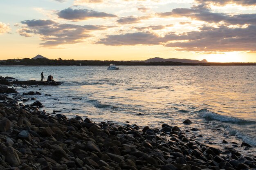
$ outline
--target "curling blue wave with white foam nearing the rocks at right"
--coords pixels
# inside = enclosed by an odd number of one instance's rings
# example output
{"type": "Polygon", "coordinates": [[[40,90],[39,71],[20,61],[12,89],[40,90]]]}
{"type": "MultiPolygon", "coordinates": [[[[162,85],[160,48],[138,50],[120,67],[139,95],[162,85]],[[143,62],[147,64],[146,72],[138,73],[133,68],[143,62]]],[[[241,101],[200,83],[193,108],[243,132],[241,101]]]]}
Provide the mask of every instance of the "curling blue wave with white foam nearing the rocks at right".
{"type": "Polygon", "coordinates": [[[201,109],[197,112],[200,117],[203,117],[208,120],[218,120],[218,121],[230,122],[234,124],[256,124],[256,121],[250,121],[250,120],[240,119],[240,118],[231,117],[231,116],[219,115],[218,113],[211,112],[207,109],[201,109]]]}

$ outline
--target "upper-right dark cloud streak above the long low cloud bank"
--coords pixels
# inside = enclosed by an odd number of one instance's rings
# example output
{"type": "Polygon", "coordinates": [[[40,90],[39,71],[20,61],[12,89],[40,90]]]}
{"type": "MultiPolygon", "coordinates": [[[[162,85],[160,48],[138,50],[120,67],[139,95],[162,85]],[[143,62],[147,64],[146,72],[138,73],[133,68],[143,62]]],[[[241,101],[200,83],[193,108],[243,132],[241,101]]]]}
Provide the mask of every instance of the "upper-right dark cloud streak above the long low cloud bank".
{"type": "Polygon", "coordinates": [[[193,6],[191,9],[177,8],[171,12],[158,13],[160,17],[188,17],[205,22],[225,22],[226,24],[256,24],[256,13],[229,15],[225,13],[213,13],[204,5],[193,6]]]}

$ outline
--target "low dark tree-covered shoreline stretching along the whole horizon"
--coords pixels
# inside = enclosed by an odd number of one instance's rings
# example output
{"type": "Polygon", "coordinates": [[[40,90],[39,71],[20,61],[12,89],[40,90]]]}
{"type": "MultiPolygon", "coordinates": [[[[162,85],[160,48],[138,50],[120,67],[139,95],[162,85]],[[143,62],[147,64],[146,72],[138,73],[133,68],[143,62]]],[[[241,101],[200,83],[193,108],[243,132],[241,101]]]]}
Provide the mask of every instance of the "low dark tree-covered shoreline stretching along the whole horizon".
{"type": "Polygon", "coordinates": [[[181,63],[181,62],[137,62],[137,61],[101,61],[101,60],[62,60],[61,58],[55,60],[49,60],[45,58],[38,58],[36,60],[24,58],[20,60],[8,59],[2,60],[2,65],[25,65],[25,66],[108,66],[114,63],[116,65],[123,66],[182,66],[182,65],[202,65],[202,66],[214,66],[214,65],[256,65],[256,63],[181,63]]]}

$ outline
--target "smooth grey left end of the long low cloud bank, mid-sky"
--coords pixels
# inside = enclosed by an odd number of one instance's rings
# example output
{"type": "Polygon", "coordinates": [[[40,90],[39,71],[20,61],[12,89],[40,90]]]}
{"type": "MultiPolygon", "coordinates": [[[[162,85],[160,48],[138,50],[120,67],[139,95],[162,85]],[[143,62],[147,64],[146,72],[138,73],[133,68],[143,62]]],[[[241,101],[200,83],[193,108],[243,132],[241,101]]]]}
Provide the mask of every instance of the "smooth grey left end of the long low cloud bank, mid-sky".
{"type": "Polygon", "coordinates": [[[106,38],[100,39],[97,44],[105,44],[111,46],[121,45],[156,45],[160,44],[161,38],[150,32],[126,33],[120,35],[107,35],[106,38]]]}

